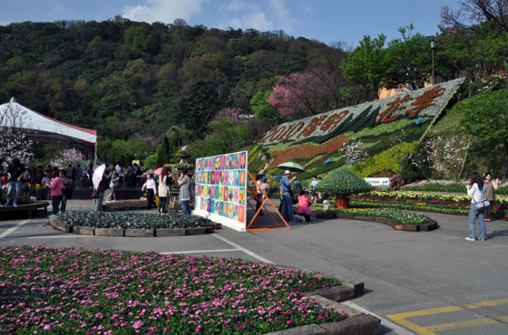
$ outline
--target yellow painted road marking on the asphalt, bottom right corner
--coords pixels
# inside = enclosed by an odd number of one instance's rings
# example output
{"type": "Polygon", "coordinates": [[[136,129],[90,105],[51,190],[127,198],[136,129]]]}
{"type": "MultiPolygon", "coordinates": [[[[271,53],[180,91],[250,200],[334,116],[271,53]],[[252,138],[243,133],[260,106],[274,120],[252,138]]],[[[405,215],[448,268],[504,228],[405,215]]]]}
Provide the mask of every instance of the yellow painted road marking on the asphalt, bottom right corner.
{"type": "Polygon", "coordinates": [[[422,310],[422,311],[407,311],[404,313],[390,314],[390,315],[386,315],[386,317],[405,326],[405,328],[407,328],[409,330],[415,331],[418,334],[436,335],[435,331],[455,330],[455,329],[460,329],[460,328],[481,326],[481,325],[486,325],[486,324],[497,323],[499,321],[508,322],[508,316],[501,316],[501,317],[497,317],[496,319],[484,318],[484,319],[476,319],[476,320],[471,320],[471,321],[458,321],[458,322],[451,322],[451,323],[442,323],[442,324],[436,324],[434,326],[427,326],[427,327],[420,327],[411,321],[407,321],[406,319],[407,318],[414,318],[417,316],[448,313],[451,311],[474,310],[477,308],[503,305],[506,303],[508,303],[508,299],[497,299],[497,300],[491,300],[491,301],[486,301],[486,302],[468,303],[468,304],[465,304],[464,307],[446,306],[446,307],[439,307],[439,308],[433,308],[433,309],[422,310]]]}

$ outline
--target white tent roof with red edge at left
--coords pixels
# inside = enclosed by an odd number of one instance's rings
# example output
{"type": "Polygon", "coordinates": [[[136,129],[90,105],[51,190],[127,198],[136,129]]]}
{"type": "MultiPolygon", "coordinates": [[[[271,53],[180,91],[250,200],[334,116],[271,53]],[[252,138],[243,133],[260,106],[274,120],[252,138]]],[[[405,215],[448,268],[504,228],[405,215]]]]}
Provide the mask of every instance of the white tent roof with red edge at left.
{"type": "Polygon", "coordinates": [[[23,129],[28,139],[40,142],[65,143],[84,149],[93,149],[97,143],[96,130],[84,129],[54,120],[24,107],[15,98],[0,105],[0,126],[23,129]],[[23,119],[21,126],[17,123],[19,118],[13,118],[13,115],[23,119]]]}

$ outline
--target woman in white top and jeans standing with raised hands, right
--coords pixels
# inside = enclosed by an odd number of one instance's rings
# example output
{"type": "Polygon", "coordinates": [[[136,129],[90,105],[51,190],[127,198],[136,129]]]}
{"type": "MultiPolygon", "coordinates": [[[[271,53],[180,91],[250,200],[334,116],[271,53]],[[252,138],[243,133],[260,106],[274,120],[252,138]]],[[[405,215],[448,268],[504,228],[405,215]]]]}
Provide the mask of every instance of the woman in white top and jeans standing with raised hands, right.
{"type": "Polygon", "coordinates": [[[476,229],[474,223],[478,218],[480,224],[480,231],[478,232],[478,239],[484,241],[487,237],[485,235],[485,222],[484,222],[484,208],[478,209],[476,204],[481,203],[484,200],[487,186],[484,184],[484,179],[478,174],[473,172],[471,175],[471,184],[465,186],[467,188],[467,195],[473,196],[471,199],[471,206],[469,207],[469,237],[465,239],[467,241],[476,240],[476,229]]]}

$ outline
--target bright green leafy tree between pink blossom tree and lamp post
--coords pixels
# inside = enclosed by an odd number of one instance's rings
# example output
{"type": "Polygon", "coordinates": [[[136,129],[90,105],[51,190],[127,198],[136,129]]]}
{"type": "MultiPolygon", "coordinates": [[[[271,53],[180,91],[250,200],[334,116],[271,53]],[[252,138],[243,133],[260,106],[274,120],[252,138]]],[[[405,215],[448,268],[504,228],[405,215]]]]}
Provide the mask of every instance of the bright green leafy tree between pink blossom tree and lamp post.
{"type": "Polygon", "coordinates": [[[342,62],[342,70],[349,81],[362,85],[372,100],[378,98],[381,83],[386,78],[386,36],[375,39],[366,35],[355,51],[342,62]]]}

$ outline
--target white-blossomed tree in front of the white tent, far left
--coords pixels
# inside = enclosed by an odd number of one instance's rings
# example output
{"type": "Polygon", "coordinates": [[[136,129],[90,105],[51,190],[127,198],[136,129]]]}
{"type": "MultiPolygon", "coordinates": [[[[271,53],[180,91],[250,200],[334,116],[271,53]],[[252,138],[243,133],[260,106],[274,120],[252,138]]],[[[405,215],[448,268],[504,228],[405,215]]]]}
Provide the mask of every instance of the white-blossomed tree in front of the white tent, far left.
{"type": "Polygon", "coordinates": [[[33,141],[26,139],[23,129],[28,118],[26,112],[15,109],[13,105],[7,104],[0,110],[0,158],[3,159],[2,166],[7,168],[14,158],[28,164],[34,158],[32,147],[33,141]]]}

